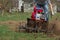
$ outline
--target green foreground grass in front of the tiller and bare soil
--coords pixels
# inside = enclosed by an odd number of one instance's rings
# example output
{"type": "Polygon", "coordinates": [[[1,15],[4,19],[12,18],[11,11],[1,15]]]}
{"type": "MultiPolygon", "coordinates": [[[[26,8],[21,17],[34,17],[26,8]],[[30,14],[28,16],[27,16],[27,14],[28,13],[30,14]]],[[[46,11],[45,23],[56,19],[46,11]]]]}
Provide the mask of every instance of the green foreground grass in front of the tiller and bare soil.
{"type": "Polygon", "coordinates": [[[56,37],[48,37],[46,34],[12,32],[7,25],[0,25],[0,40],[55,40],[56,37]]]}

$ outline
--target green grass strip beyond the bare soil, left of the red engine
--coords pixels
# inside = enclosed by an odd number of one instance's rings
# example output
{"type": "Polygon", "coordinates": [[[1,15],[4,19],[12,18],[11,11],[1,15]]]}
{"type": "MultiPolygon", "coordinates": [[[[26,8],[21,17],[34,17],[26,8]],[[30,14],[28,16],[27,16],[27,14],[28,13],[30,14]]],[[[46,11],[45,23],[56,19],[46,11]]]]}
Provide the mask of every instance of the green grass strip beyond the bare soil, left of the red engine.
{"type": "Polygon", "coordinates": [[[30,17],[31,13],[17,13],[14,12],[12,14],[4,13],[4,16],[0,15],[0,21],[8,21],[8,20],[14,20],[14,21],[20,21],[20,20],[26,20],[28,17],[30,17]]]}

